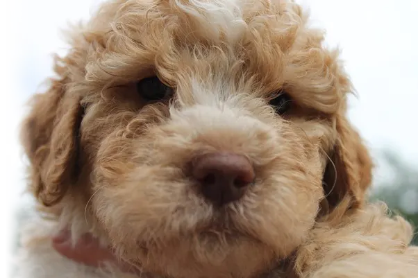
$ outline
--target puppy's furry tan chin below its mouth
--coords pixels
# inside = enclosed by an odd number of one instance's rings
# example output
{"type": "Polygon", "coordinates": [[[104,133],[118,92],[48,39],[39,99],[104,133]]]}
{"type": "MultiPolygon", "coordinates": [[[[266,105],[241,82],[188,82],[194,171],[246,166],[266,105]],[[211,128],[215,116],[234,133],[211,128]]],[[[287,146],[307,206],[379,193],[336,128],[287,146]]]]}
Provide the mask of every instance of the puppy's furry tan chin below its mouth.
{"type": "Polygon", "coordinates": [[[142,270],[169,277],[253,277],[276,265],[267,244],[243,232],[209,229],[140,243],[142,270]]]}

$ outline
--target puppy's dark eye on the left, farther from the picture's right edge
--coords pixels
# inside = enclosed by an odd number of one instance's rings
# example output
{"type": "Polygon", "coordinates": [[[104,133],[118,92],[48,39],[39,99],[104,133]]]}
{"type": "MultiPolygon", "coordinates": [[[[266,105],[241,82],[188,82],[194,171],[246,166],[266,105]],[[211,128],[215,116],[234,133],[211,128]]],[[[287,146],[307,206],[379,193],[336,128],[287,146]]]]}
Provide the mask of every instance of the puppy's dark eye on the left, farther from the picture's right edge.
{"type": "Polygon", "coordinates": [[[173,89],[163,84],[157,76],[138,81],[136,89],[138,94],[147,101],[160,101],[173,94],[173,89]]]}

